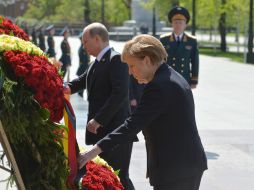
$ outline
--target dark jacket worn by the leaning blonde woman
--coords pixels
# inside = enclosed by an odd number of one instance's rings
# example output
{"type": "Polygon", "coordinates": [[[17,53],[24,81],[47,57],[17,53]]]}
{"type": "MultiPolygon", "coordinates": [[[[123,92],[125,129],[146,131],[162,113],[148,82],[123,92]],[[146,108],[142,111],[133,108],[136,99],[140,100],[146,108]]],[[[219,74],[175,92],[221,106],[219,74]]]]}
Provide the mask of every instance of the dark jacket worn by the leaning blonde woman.
{"type": "Polygon", "coordinates": [[[108,151],[142,130],[151,185],[191,177],[207,169],[197,131],[193,95],[188,83],[166,64],[144,89],[136,112],[97,144],[108,151]]]}

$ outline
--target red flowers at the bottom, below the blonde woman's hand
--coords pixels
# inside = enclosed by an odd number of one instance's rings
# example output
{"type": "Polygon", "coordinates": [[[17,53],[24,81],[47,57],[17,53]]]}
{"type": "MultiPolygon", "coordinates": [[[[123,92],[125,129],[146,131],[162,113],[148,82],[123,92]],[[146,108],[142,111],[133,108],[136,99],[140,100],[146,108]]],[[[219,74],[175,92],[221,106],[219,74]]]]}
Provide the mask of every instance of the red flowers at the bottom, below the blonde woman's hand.
{"type": "Polygon", "coordinates": [[[87,190],[123,190],[116,174],[107,166],[90,161],[86,164],[86,174],[81,179],[81,189],[87,190]]]}

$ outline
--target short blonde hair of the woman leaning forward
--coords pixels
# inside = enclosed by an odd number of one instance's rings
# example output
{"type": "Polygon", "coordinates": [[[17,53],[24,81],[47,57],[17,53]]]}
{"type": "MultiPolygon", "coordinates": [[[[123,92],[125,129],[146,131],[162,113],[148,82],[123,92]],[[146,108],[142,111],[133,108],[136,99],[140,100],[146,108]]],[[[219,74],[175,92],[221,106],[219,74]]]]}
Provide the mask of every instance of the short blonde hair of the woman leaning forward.
{"type": "Polygon", "coordinates": [[[152,64],[160,64],[166,62],[168,54],[157,38],[151,35],[142,34],[126,42],[121,57],[123,62],[126,62],[125,60],[127,56],[140,59],[148,56],[152,64]]]}

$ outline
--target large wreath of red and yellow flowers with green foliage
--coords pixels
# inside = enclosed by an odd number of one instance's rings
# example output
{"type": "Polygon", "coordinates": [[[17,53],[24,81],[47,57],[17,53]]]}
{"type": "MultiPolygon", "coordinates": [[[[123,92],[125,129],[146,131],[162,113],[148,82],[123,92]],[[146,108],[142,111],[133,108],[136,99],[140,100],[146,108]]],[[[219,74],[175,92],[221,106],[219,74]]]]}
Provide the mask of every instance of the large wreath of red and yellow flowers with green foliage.
{"type": "MultiPolygon", "coordinates": [[[[56,67],[22,29],[0,16],[0,120],[28,190],[71,188],[62,143],[67,129],[59,124],[63,108],[56,67]]],[[[99,157],[84,170],[79,189],[123,189],[117,172],[99,157]]]]}

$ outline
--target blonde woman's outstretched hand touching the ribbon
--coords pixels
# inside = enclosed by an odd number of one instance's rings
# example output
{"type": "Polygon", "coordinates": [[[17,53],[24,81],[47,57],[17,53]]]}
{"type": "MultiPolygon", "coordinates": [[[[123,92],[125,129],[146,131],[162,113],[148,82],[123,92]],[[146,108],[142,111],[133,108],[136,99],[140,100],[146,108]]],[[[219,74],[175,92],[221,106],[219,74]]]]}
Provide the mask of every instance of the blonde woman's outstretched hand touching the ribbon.
{"type": "Polygon", "coordinates": [[[95,158],[98,154],[100,154],[102,151],[100,147],[97,145],[93,146],[93,148],[85,153],[81,153],[78,158],[78,163],[79,163],[79,169],[84,167],[84,165],[95,158]]]}

